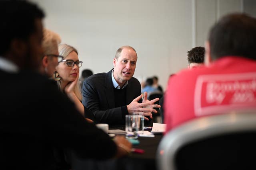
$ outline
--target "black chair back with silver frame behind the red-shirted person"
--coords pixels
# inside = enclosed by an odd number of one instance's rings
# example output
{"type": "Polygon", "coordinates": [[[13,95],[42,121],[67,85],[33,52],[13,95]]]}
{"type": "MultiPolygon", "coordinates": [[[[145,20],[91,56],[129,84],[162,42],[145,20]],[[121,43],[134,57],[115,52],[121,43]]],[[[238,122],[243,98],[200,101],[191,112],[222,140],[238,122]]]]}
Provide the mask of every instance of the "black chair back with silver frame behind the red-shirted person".
{"type": "Polygon", "coordinates": [[[200,117],[172,129],[158,146],[158,170],[256,169],[255,113],[200,117]]]}

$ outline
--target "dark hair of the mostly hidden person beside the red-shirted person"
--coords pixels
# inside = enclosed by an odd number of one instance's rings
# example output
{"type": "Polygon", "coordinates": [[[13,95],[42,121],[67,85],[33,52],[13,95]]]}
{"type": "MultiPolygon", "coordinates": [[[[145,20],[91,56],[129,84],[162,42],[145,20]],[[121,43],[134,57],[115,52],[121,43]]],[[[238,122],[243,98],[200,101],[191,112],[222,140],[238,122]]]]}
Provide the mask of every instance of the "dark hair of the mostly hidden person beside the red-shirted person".
{"type": "Polygon", "coordinates": [[[204,47],[194,47],[188,53],[188,64],[190,63],[204,63],[204,47]]]}

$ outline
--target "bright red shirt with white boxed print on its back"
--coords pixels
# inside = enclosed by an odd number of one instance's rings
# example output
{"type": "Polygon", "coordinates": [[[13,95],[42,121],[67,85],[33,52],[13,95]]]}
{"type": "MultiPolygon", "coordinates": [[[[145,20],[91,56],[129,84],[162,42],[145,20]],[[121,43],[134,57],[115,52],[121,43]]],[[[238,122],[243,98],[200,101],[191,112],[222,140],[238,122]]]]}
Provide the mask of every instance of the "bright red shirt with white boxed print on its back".
{"type": "Polygon", "coordinates": [[[169,131],[195,117],[240,109],[256,109],[256,61],[223,57],[170,78],[164,123],[169,131]]]}

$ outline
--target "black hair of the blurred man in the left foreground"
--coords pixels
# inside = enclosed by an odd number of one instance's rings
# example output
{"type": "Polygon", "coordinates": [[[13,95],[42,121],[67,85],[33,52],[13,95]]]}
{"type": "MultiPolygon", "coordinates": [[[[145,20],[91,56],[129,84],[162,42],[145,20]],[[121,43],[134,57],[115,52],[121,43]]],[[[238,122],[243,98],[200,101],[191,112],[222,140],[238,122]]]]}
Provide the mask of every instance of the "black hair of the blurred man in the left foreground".
{"type": "Polygon", "coordinates": [[[44,18],[44,12],[22,0],[0,1],[0,55],[6,53],[13,39],[28,40],[36,31],[35,20],[44,18]]]}

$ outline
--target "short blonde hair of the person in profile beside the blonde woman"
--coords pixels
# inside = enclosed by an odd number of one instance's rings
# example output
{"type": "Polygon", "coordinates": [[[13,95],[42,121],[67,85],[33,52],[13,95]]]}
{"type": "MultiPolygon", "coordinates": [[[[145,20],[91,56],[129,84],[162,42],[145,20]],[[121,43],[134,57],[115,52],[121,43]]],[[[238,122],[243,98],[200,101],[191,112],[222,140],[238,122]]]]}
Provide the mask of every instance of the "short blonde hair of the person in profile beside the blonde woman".
{"type": "Polygon", "coordinates": [[[44,49],[44,55],[52,54],[57,50],[56,47],[61,42],[60,35],[45,28],[43,30],[43,34],[42,47],[44,49]]]}

